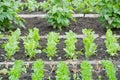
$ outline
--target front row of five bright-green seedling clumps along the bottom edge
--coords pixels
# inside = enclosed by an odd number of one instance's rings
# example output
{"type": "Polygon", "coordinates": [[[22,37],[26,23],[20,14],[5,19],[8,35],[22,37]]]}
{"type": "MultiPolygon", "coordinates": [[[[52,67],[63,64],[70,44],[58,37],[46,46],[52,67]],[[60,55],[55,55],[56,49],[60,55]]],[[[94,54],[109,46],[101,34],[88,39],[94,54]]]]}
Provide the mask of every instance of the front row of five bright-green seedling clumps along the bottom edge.
{"type": "MultiPolygon", "coordinates": [[[[114,64],[108,60],[102,60],[101,62],[102,70],[105,70],[108,80],[117,80],[116,69],[114,64]]],[[[79,76],[73,77],[73,80],[93,80],[92,77],[93,67],[89,61],[82,61],[80,64],[80,74],[79,76]]],[[[21,60],[16,60],[14,65],[10,70],[8,70],[8,80],[19,80],[22,74],[27,73],[27,68],[24,66],[24,62],[21,60]]],[[[59,61],[57,68],[55,70],[55,79],[56,80],[70,80],[70,70],[68,65],[65,62],[59,61]]],[[[42,60],[36,60],[32,64],[32,74],[31,80],[45,80],[45,63],[42,60]]],[[[100,75],[99,75],[100,76],[100,75]]],[[[51,76],[48,77],[49,80],[52,80],[51,76]]],[[[102,80],[98,77],[99,80],[102,80]]]]}

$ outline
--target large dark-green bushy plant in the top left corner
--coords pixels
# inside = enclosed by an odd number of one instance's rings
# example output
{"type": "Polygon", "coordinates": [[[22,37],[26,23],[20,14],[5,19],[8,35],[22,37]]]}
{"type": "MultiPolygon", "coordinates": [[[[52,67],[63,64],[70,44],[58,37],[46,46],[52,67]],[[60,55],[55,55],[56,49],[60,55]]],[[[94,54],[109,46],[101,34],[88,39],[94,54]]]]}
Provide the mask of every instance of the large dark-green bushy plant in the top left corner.
{"type": "Polygon", "coordinates": [[[23,19],[18,17],[20,1],[0,0],[0,30],[13,29],[13,24],[23,25],[23,19]]]}

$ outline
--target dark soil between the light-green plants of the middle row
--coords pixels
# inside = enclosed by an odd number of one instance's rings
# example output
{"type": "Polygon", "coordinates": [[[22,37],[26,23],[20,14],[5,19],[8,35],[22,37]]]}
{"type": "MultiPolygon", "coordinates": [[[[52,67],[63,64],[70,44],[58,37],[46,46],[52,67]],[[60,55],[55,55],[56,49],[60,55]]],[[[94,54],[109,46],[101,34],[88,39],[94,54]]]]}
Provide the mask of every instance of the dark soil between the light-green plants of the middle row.
{"type": "MultiPolygon", "coordinates": [[[[65,57],[65,51],[63,50],[65,48],[65,44],[64,44],[65,39],[60,39],[60,43],[57,45],[57,55],[55,57],[53,57],[53,60],[55,61],[64,61],[67,60],[69,58],[65,57]]],[[[95,55],[90,57],[90,60],[102,60],[102,59],[112,59],[112,60],[120,60],[120,52],[118,52],[117,56],[111,57],[107,52],[106,52],[106,47],[104,44],[104,39],[101,38],[96,38],[95,42],[98,45],[97,48],[97,52],[95,53],[95,55]]],[[[120,40],[119,40],[120,42],[120,40]]],[[[42,46],[42,50],[45,49],[46,47],[46,39],[41,39],[40,40],[40,45],[42,46]]],[[[24,45],[23,45],[23,41],[21,40],[20,45],[20,51],[18,51],[13,58],[15,59],[21,59],[21,60],[25,60],[28,61],[29,57],[26,57],[25,55],[25,51],[24,51],[24,45]]],[[[76,51],[82,51],[83,54],[78,54],[78,60],[85,60],[85,55],[84,55],[84,45],[82,42],[82,39],[78,38],[78,41],[76,43],[76,51]]],[[[4,49],[0,49],[0,62],[1,61],[6,61],[5,60],[5,51],[4,49]]],[[[49,58],[47,57],[46,53],[42,52],[40,54],[36,54],[35,58],[33,58],[32,60],[36,60],[36,59],[43,59],[46,61],[49,61],[49,58]]]]}

